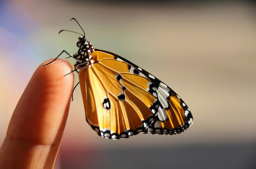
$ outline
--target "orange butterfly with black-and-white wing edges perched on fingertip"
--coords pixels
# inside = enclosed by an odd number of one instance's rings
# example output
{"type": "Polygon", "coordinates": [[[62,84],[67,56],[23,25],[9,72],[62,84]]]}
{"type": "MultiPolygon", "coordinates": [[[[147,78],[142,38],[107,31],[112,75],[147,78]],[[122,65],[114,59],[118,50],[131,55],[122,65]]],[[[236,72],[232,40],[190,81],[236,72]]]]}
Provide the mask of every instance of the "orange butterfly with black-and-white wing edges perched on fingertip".
{"type": "Polygon", "coordinates": [[[78,52],[63,50],[55,60],[63,52],[77,60],[74,71],[79,73],[86,121],[99,136],[115,140],[139,133],[173,135],[192,125],[190,109],[164,82],[115,53],[94,49],[84,31],[78,34],[78,52]]]}

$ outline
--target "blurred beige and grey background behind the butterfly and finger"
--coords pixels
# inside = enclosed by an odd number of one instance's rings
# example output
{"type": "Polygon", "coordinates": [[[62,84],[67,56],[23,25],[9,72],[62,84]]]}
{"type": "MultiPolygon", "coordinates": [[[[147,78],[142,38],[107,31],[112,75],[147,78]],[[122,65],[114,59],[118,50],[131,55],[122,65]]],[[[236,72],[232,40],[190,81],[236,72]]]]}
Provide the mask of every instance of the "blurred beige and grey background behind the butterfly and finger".
{"type": "Polygon", "coordinates": [[[81,32],[69,21],[75,17],[95,48],[176,91],[194,124],[176,136],[100,138],[76,89],[55,169],[255,169],[255,9],[253,1],[228,0],[1,0],[0,145],[38,65],[63,49],[76,53],[77,34],[58,35],[81,32]]]}

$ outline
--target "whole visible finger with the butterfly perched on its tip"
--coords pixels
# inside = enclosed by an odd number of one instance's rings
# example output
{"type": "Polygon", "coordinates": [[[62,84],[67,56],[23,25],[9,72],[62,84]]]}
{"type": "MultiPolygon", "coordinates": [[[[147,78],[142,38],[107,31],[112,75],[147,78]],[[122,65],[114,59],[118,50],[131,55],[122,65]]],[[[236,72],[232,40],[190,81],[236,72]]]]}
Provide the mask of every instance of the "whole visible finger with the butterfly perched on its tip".
{"type": "Polygon", "coordinates": [[[63,59],[34,72],[13,111],[0,150],[0,169],[54,167],[70,107],[74,74],[63,59]]]}

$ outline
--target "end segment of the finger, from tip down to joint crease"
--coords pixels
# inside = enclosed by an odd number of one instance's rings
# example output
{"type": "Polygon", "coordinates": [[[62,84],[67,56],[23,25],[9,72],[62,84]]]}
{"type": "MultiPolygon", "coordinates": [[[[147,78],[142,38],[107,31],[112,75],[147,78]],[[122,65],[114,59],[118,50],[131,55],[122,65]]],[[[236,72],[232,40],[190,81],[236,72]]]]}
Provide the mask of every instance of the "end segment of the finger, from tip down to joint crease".
{"type": "Polygon", "coordinates": [[[72,65],[64,59],[43,67],[52,60],[43,62],[34,72],[13,112],[7,135],[42,145],[61,141],[62,134],[58,135],[56,131],[62,133],[65,127],[74,73],[65,76],[72,71],[72,65]]]}

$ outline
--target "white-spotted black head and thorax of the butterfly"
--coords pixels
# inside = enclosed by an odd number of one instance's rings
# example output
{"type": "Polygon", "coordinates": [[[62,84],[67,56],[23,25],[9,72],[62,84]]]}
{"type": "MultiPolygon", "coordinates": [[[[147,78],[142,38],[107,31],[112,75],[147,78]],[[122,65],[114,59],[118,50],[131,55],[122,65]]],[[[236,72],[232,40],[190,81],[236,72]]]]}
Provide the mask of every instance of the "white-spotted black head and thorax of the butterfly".
{"type": "Polygon", "coordinates": [[[88,42],[85,37],[79,37],[76,46],[79,47],[77,53],[73,55],[74,59],[77,60],[74,64],[75,68],[81,69],[88,64],[94,62],[91,53],[94,51],[94,47],[91,42],[88,42]]]}

